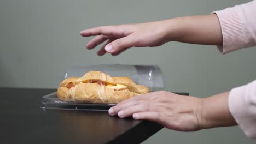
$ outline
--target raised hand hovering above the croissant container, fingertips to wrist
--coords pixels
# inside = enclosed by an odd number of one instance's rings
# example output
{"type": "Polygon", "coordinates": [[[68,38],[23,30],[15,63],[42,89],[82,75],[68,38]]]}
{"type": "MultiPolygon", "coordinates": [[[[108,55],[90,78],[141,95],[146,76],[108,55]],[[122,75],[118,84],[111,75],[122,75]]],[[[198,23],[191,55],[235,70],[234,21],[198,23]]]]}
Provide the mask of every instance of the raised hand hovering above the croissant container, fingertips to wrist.
{"type": "Polygon", "coordinates": [[[97,45],[107,40],[97,54],[102,56],[108,52],[115,56],[133,46],[160,46],[166,43],[167,27],[165,23],[165,21],[158,21],[130,25],[102,26],[85,29],[80,34],[84,37],[97,35],[86,45],[88,49],[94,49],[97,45]]]}

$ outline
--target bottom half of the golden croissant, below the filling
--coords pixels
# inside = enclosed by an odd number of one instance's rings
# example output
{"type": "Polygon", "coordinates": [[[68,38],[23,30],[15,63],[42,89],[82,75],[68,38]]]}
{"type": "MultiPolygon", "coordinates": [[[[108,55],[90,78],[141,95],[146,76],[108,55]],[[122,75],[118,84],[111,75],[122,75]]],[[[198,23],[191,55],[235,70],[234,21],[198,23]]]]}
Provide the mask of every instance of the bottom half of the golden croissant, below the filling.
{"type": "Polygon", "coordinates": [[[60,99],[64,101],[75,101],[78,103],[116,104],[123,100],[138,95],[129,89],[116,91],[97,83],[78,83],[75,87],[58,88],[60,99]]]}

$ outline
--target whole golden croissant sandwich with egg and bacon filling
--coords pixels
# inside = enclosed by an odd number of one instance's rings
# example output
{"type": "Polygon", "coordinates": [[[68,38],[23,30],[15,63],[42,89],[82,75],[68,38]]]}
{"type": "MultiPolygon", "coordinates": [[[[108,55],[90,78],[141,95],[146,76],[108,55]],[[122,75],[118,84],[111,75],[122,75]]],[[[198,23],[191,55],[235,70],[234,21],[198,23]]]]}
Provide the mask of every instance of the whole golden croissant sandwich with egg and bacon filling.
{"type": "Polygon", "coordinates": [[[115,104],[139,94],[149,93],[129,77],[111,77],[101,71],[89,71],[82,77],[69,77],[60,83],[57,96],[63,101],[115,104]]]}

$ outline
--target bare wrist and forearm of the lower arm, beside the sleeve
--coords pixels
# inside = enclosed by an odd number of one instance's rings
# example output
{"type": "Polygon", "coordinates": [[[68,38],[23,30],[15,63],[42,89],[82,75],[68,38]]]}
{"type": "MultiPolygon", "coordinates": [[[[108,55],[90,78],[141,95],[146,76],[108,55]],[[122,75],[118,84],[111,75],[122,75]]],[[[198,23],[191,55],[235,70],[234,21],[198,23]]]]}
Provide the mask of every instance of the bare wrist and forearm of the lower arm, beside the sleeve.
{"type": "Polygon", "coordinates": [[[237,125],[228,106],[229,92],[203,98],[201,103],[202,129],[237,125]]]}

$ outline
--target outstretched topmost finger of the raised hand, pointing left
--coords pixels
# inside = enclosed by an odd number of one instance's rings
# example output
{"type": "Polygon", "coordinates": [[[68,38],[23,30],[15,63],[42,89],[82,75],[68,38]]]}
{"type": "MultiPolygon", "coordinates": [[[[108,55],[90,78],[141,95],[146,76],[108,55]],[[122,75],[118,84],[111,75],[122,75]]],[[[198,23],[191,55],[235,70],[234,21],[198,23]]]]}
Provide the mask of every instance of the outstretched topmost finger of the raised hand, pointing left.
{"type": "Polygon", "coordinates": [[[116,31],[116,26],[102,26],[102,27],[94,27],[85,29],[84,31],[80,32],[80,35],[83,37],[89,37],[92,35],[113,35],[113,31],[116,31]]]}

